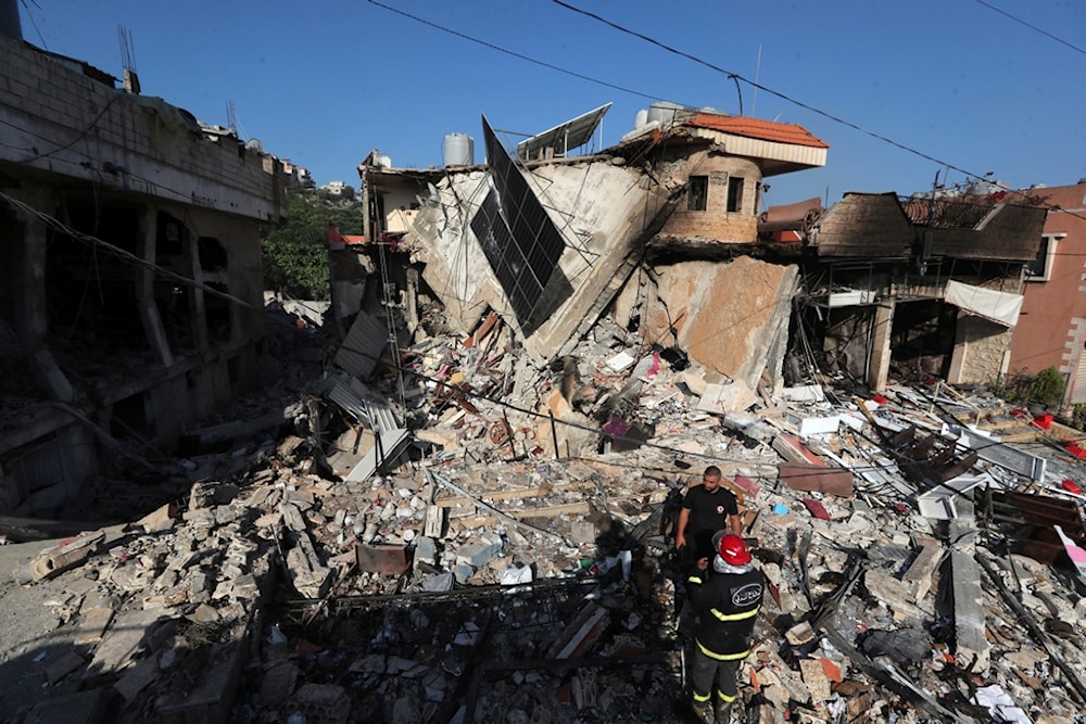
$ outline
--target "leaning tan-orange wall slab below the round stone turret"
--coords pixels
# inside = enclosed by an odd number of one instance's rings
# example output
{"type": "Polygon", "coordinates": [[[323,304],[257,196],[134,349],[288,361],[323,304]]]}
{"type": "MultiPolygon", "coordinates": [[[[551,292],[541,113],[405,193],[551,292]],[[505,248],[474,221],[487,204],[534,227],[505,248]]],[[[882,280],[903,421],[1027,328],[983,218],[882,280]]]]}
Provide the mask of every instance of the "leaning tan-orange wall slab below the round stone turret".
{"type": "Polygon", "coordinates": [[[763,370],[773,379],[780,370],[798,271],[748,256],[657,267],[642,339],[678,344],[704,367],[757,390],[763,370]]]}

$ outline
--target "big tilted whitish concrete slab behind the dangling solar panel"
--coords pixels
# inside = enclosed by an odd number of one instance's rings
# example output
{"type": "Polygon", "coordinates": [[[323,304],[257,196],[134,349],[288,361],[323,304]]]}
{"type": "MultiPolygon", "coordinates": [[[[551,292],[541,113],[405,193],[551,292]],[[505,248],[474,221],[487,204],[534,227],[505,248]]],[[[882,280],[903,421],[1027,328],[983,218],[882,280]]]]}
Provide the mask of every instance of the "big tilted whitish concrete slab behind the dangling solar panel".
{"type": "MultiPolygon", "coordinates": [[[[526,340],[526,350],[550,358],[595,318],[632,272],[646,230],[654,228],[667,195],[642,172],[607,160],[552,163],[525,174],[566,249],[558,263],[561,283],[548,284],[543,305],[554,312],[526,340]]],[[[440,203],[416,217],[411,241],[422,278],[445,304],[462,332],[488,307],[512,319],[512,309],[482,252],[470,221],[491,183],[487,174],[451,174],[439,186],[440,203]]]]}

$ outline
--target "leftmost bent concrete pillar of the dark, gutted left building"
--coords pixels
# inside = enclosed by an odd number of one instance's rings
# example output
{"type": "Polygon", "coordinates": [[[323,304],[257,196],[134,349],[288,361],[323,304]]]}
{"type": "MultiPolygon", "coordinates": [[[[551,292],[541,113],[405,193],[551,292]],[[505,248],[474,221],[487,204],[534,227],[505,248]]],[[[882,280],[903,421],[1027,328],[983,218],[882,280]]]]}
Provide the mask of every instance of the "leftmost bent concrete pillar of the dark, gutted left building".
{"type": "MultiPolygon", "coordinates": [[[[38,209],[52,207],[52,189],[39,183],[24,181],[21,185],[20,201],[38,209]]],[[[35,214],[20,212],[23,233],[16,240],[15,268],[12,280],[12,322],[15,334],[29,355],[34,376],[49,394],[61,402],[75,398],[75,390],[61,371],[46,343],[49,330],[49,306],[46,297],[46,250],[47,233],[45,223],[35,214]]]]}

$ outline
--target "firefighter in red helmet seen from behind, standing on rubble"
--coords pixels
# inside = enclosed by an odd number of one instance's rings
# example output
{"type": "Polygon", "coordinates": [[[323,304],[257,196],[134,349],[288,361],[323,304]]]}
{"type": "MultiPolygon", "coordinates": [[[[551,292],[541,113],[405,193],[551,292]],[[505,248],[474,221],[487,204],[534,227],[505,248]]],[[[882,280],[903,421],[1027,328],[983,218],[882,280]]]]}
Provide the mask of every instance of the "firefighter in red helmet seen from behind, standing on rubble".
{"type": "Polygon", "coordinates": [[[712,564],[700,576],[691,576],[691,602],[697,620],[687,678],[694,713],[707,724],[731,719],[732,703],[738,696],[736,674],[750,653],[755,619],[766,590],[766,576],[754,567],[743,538],[720,532],[714,544],[717,555],[712,564]]]}

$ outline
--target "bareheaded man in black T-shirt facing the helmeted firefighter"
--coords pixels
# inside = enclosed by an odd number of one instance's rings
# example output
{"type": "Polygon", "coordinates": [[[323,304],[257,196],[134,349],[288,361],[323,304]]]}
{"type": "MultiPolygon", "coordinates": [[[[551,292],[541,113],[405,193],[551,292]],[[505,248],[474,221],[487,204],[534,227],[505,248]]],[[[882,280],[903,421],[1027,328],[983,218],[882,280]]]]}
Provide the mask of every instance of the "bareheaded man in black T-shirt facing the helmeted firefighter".
{"type": "Polygon", "coordinates": [[[716,555],[712,536],[719,531],[742,534],[735,495],[720,485],[720,468],[712,465],[705,469],[702,484],[686,492],[675,525],[675,548],[699,570],[708,567],[716,555]]]}

